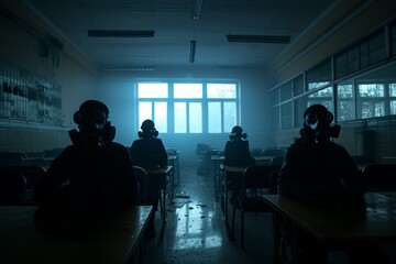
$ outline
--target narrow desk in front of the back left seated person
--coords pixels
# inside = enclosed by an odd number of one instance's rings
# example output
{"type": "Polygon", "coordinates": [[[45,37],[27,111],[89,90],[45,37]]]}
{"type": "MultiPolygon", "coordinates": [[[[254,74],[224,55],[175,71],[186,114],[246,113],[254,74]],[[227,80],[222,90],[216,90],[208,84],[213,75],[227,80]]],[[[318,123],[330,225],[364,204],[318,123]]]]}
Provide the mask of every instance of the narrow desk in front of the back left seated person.
{"type": "MultiPolygon", "coordinates": [[[[147,184],[148,185],[155,185],[158,186],[158,190],[160,190],[160,206],[161,206],[161,213],[162,213],[162,230],[165,227],[165,222],[166,222],[166,208],[165,208],[165,200],[166,200],[166,176],[168,175],[168,173],[173,169],[172,166],[166,166],[163,168],[147,168],[146,173],[147,173],[147,184]]],[[[173,179],[173,175],[170,173],[170,198],[173,197],[173,193],[174,193],[174,179],[173,179]]]]}

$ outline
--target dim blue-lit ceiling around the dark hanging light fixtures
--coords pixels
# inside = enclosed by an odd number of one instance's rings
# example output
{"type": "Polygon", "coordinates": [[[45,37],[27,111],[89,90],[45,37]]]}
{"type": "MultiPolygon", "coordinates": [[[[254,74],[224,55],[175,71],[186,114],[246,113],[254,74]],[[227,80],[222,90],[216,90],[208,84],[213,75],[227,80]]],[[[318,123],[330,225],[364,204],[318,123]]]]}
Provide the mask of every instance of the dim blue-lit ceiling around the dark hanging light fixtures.
{"type": "Polygon", "coordinates": [[[336,0],[25,0],[99,68],[267,67],[336,0]],[[88,37],[88,30],[155,31],[153,37],[88,37]],[[290,44],[230,43],[227,34],[288,35],[290,44]],[[190,41],[196,41],[191,64],[190,41]]]}

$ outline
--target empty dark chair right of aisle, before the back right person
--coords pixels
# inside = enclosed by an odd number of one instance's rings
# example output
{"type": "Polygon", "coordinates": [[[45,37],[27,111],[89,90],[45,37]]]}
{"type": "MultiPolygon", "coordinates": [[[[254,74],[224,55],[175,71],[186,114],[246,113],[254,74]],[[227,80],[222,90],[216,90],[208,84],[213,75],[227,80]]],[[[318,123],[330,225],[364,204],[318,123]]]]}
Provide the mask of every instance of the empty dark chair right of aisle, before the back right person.
{"type": "MultiPolygon", "coordinates": [[[[271,207],[262,198],[263,195],[272,194],[271,174],[279,170],[280,165],[252,165],[242,176],[240,196],[234,201],[232,209],[231,238],[234,238],[235,210],[241,211],[241,248],[244,249],[244,213],[245,212],[272,212],[271,207]]],[[[274,174],[276,175],[276,174],[274,174]]]]}

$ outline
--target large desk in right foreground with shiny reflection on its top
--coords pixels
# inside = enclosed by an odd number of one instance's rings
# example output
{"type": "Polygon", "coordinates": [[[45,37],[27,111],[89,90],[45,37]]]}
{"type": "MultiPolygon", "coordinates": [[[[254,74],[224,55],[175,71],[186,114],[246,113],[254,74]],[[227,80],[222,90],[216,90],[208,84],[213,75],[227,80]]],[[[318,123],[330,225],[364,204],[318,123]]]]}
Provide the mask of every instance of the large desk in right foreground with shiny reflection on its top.
{"type": "MultiPolygon", "coordinates": [[[[396,242],[396,198],[392,196],[367,193],[365,205],[361,207],[311,205],[279,195],[264,196],[264,200],[274,209],[274,263],[277,263],[279,227],[285,221],[293,227],[292,238],[302,231],[329,249],[366,242],[396,242]]],[[[292,244],[293,263],[299,263],[298,243],[292,244]]]]}

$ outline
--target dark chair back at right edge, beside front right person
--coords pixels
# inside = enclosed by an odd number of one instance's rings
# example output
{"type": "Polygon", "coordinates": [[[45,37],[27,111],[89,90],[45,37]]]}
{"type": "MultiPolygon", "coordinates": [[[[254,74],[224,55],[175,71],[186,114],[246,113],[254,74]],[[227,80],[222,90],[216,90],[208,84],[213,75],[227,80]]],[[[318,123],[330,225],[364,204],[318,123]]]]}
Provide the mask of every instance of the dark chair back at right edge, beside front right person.
{"type": "Polygon", "coordinates": [[[362,170],[370,190],[396,190],[396,164],[372,163],[362,170]]]}

